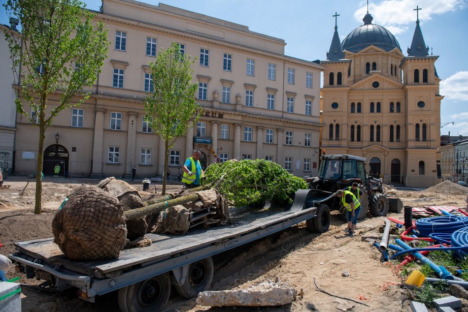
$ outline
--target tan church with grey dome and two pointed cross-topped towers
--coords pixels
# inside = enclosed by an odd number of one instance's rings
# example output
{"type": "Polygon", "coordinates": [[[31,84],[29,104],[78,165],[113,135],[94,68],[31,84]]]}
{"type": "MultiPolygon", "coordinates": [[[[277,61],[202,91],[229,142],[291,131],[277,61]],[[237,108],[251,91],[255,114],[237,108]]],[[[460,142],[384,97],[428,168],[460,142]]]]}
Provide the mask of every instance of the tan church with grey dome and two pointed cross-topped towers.
{"type": "Polygon", "coordinates": [[[367,158],[369,174],[386,184],[441,182],[438,56],[429,54],[419,16],[406,55],[390,31],[372,24],[369,12],[340,42],[337,16],[327,59],[320,62],[322,149],[367,158]]]}

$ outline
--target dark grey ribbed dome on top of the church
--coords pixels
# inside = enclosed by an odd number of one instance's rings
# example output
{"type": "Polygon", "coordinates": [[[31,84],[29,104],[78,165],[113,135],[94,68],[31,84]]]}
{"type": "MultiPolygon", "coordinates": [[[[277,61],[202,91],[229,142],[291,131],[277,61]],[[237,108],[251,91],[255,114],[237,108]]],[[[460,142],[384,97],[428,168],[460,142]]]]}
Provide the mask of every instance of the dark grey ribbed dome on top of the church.
{"type": "Polygon", "coordinates": [[[350,52],[359,52],[374,45],[385,51],[398,48],[401,51],[400,44],[395,36],[382,26],[372,24],[372,15],[369,13],[364,16],[364,25],[351,31],[341,43],[343,50],[350,52]]]}

